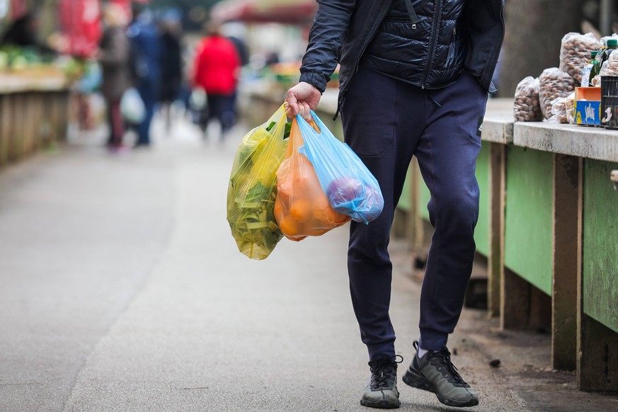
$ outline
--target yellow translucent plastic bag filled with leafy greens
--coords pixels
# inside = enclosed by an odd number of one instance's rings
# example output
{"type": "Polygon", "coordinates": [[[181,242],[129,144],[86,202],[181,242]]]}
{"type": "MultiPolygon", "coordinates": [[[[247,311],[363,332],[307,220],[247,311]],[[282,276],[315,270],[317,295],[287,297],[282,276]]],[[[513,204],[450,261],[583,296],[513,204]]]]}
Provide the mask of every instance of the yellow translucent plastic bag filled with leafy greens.
{"type": "Polygon", "coordinates": [[[275,221],[277,175],[290,127],[283,105],[263,125],[243,137],[227,189],[227,221],[239,251],[251,259],[270,255],[282,238],[275,221]]]}

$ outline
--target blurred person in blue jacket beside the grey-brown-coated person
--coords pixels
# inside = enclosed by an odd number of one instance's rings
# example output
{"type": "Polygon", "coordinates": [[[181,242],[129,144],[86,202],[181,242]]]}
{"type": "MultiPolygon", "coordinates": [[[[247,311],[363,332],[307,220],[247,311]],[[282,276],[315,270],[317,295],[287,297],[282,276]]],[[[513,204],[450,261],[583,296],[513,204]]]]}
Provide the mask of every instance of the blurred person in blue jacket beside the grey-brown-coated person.
{"type": "Polygon", "coordinates": [[[130,74],[146,108],[144,120],[137,125],[137,148],[149,147],[151,143],[150,125],[161,91],[161,42],[159,30],[144,5],[134,3],[132,13],[133,20],[127,29],[131,46],[130,74]]]}

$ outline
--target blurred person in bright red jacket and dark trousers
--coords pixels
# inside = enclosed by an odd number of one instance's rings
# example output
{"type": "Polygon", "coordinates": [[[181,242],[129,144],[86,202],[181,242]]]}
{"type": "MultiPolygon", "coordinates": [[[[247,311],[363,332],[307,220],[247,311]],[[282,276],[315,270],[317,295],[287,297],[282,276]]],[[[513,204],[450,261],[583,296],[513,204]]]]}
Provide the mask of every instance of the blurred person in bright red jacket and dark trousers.
{"type": "Polygon", "coordinates": [[[240,57],[231,40],[219,33],[218,25],[208,26],[208,34],[195,49],[193,88],[202,88],[207,105],[200,113],[200,127],[206,131],[212,119],[221,124],[221,141],[236,121],[234,96],[240,57]]]}

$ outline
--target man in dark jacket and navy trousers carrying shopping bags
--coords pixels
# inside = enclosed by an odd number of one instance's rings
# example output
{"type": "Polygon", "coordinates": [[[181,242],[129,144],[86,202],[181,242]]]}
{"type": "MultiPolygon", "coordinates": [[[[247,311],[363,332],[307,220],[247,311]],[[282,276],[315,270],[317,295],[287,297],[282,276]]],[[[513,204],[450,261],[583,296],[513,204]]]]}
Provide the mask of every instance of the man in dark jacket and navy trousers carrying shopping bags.
{"type": "MultiPolygon", "coordinates": [[[[395,333],[389,318],[389,234],[416,156],[435,228],[420,294],[420,339],[403,376],[449,406],[479,396],[451,362],[454,331],[474,261],[479,216],[476,156],[491,76],[504,38],[503,0],[318,0],[288,115],[310,117],[340,64],[345,142],[374,174],[382,214],[350,224],[348,276],[371,377],[360,404],[398,408],[395,333]]],[[[333,382],[336,384],[336,382],[333,382]]]]}

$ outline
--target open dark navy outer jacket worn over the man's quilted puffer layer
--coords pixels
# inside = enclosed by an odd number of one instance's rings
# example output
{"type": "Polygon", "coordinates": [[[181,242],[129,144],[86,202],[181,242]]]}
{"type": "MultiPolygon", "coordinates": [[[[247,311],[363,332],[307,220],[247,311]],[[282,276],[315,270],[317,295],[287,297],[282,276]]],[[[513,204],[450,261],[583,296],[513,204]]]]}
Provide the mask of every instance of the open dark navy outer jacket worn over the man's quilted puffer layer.
{"type": "MultiPolygon", "coordinates": [[[[392,0],[317,1],[319,7],[309,33],[300,81],[306,81],[324,91],[326,82],[337,63],[340,63],[341,102],[357,71],[361,56],[387,16],[392,0]]],[[[495,92],[491,77],[504,38],[504,0],[434,1],[464,1],[464,16],[460,21],[466,26],[467,33],[465,68],[479,79],[486,91],[495,92]]],[[[420,3],[416,1],[415,4],[420,3]]],[[[417,7],[420,6],[415,6],[415,9],[417,7]]],[[[435,38],[427,41],[430,44],[437,42],[435,38]]]]}

